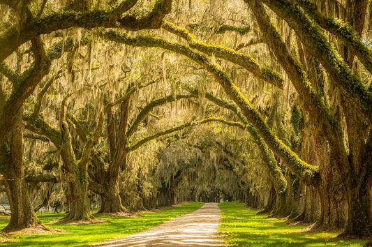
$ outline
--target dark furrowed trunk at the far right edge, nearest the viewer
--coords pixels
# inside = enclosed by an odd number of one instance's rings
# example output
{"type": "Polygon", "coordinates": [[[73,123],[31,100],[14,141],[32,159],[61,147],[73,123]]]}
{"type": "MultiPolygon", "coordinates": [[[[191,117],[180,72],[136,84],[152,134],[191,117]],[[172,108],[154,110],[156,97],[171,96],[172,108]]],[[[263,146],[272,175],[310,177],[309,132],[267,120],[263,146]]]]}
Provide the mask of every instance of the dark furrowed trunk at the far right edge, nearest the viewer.
{"type": "Polygon", "coordinates": [[[352,105],[344,102],[343,109],[350,144],[350,168],[343,172],[350,174],[346,179],[343,177],[348,198],[348,223],[341,236],[370,237],[372,235],[372,131],[370,130],[368,137],[364,135],[363,123],[352,105]]]}

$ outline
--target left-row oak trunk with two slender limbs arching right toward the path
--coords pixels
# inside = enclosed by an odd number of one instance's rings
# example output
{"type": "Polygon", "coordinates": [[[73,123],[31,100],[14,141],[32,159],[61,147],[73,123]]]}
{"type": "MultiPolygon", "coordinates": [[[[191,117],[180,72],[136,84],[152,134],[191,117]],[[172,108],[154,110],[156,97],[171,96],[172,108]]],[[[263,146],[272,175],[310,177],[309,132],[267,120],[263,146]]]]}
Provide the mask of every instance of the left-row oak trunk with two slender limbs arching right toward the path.
{"type": "MultiPolygon", "coordinates": [[[[128,139],[135,133],[139,124],[147,117],[147,114],[154,109],[154,107],[159,105],[164,105],[165,103],[173,102],[174,100],[179,100],[182,98],[193,98],[193,95],[177,95],[177,96],[165,96],[163,98],[157,98],[152,100],[148,105],[146,105],[141,112],[137,115],[131,128],[127,130],[128,126],[128,112],[129,112],[129,102],[130,96],[134,91],[128,89],[126,96],[123,96],[121,99],[124,99],[121,102],[119,117],[115,117],[111,110],[107,110],[107,133],[108,141],[110,146],[110,164],[108,168],[105,168],[105,164],[101,158],[95,156],[92,158],[93,163],[96,169],[94,172],[91,172],[92,181],[89,184],[89,188],[93,190],[98,195],[102,197],[102,206],[100,213],[116,213],[120,211],[128,211],[121,203],[119,195],[119,170],[123,170],[126,167],[126,154],[128,152],[141,147],[147,142],[161,137],[163,135],[168,135],[175,131],[182,130],[184,128],[193,126],[195,124],[209,123],[210,121],[218,121],[225,123],[230,126],[238,126],[243,128],[244,126],[241,123],[224,121],[223,119],[208,118],[201,121],[188,122],[181,124],[177,127],[170,128],[168,130],[160,131],[149,137],[144,137],[139,142],[132,144],[130,147],[127,147],[128,139]],[[119,126],[115,126],[116,119],[119,119],[119,126]]],[[[115,101],[115,102],[118,102],[115,101]]],[[[114,104],[109,104],[112,107],[114,104]]],[[[153,200],[155,202],[155,200],[153,200]]],[[[142,202],[139,205],[141,209],[143,208],[142,202]]]]}

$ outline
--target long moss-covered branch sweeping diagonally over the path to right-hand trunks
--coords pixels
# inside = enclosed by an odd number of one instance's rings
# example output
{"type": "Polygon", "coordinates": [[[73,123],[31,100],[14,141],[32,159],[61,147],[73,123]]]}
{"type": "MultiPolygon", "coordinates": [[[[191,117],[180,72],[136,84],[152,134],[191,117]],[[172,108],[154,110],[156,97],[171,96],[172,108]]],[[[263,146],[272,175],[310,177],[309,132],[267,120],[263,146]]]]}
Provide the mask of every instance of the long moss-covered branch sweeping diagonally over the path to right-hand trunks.
{"type": "Polygon", "coordinates": [[[250,121],[253,126],[258,130],[261,137],[265,140],[271,150],[280,157],[288,168],[296,174],[298,177],[306,179],[306,181],[313,181],[318,179],[318,167],[309,165],[304,162],[295,152],[287,147],[281,140],[274,135],[267,123],[262,119],[260,114],[253,109],[248,99],[239,91],[237,86],[232,82],[232,79],[225,73],[225,71],[218,66],[214,61],[211,61],[209,57],[201,52],[192,50],[186,45],[175,43],[164,38],[154,38],[151,36],[136,36],[130,37],[124,33],[117,33],[114,31],[108,31],[103,36],[109,40],[116,41],[118,43],[125,43],[127,45],[142,46],[142,47],[161,47],[166,50],[171,50],[179,54],[183,54],[191,60],[199,63],[209,73],[214,75],[215,79],[226,93],[235,101],[235,103],[241,109],[244,117],[250,121]]]}

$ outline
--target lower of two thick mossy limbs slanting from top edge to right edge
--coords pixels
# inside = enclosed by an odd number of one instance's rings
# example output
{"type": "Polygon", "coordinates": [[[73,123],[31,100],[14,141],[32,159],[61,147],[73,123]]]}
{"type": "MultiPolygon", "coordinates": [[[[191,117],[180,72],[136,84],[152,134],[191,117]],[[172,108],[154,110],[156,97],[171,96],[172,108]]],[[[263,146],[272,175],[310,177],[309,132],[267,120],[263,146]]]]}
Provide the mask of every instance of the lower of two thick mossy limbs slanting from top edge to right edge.
{"type": "MultiPolygon", "coordinates": [[[[245,0],[252,3],[251,0],[245,0]]],[[[282,17],[295,30],[304,46],[324,66],[332,82],[372,124],[372,92],[352,73],[337,50],[329,44],[318,24],[313,23],[298,7],[286,0],[262,0],[271,10],[282,17]]]]}

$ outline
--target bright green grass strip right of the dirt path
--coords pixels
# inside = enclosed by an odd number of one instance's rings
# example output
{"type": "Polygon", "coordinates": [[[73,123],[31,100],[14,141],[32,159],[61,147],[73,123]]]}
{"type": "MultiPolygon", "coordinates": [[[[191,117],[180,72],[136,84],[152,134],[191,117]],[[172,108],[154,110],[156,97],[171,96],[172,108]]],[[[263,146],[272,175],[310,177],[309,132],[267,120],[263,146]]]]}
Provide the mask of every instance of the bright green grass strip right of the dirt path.
{"type": "Polygon", "coordinates": [[[218,204],[222,210],[220,232],[229,246],[363,246],[365,241],[334,239],[339,232],[299,232],[306,225],[257,215],[239,202],[218,204]]]}

